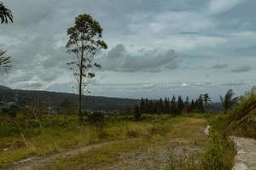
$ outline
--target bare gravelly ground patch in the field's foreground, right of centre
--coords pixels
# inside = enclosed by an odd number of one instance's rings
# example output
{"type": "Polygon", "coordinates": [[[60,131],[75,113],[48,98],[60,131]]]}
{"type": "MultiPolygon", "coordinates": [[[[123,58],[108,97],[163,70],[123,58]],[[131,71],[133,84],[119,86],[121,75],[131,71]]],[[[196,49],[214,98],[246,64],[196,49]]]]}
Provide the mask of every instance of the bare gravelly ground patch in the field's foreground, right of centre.
{"type": "Polygon", "coordinates": [[[137,150],[132,153],[126,153],[121,156],[121,161],[114,165],[104,166],[101,168],[91,168],[90,170],[164,170],[169,164],[169,156],[175,149],[180,154],[199,154],[202,149],[191,141],[183,138],[170,139],[167,142],[161,142],[151,145],[143,150],[137,150]]]}

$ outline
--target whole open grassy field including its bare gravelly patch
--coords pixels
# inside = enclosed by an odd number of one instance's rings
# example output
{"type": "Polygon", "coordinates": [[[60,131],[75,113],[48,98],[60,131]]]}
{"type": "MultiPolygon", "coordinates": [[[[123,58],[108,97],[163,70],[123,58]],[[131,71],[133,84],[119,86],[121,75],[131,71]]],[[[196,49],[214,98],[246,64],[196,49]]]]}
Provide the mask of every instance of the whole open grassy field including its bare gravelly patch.
{"type": "Polygon", "coordinates": [[[58,157],[43,167],[172,169],[173,162],[176,166],[180,164],[179,167],[184,164],[186,167],[195,166],[195,162],[210,148],[209,138],[204,134],[207,126],[205,116],[145,115],[140,122],[116,116],[107,118],[101,126],[81,125],[75,116],[45,116],[40,123],[24,120],[24,117],[15,120],[2,117],[2,122],[1,167],[9,167],[13,162],[28,157],[49,157],[65,153],[65,150],[79,150],[86,145],[105,144],[73,156],[58,157]],[[176,160],[178,156],[179,160],[176,160]],[[187,162],[183,156],[196,159],[187,162]]]}

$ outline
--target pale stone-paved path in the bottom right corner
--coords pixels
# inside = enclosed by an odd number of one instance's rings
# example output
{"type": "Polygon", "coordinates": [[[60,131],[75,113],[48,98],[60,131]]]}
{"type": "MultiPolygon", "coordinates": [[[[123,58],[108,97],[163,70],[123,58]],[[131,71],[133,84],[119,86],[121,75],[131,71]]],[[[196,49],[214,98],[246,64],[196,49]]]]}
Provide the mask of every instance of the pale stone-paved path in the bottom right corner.
{"type": "Polygon", "coordinates": [[[256,140],[233,137],[237,156],[233,170],[256,170],[256,140]]]}

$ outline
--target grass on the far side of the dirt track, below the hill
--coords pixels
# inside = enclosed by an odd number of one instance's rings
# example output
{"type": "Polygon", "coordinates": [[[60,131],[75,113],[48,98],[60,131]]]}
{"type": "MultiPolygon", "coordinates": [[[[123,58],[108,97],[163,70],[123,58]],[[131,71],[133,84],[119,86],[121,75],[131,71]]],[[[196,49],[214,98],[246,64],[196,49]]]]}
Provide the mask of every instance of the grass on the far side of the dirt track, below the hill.
{"type": "MultiPolygon", "coordinates": [[[[44,116],[38,122],[26,117],[0,117],[0,167],[14,161],[31,157],[46,156],[63,149],[73,149],[84,145],[97,144],[121,139],[150,138],[165,135],[171,131],[174,122],[188,118],[170,116],[143,116],[143,121],[133,122],[128,117],[108,118],[103,127],[85,123],[79,125],[76,116],[44,116]],[[118,121],[117,121],[118,120],[118,121]]],[[[190,118],[189,118],[190,119],[190,118]]],[[[184,127],[186,128],[186,127],[184,127]]],[[[173,130],[173,133],[181,133],[173,130]]]]}

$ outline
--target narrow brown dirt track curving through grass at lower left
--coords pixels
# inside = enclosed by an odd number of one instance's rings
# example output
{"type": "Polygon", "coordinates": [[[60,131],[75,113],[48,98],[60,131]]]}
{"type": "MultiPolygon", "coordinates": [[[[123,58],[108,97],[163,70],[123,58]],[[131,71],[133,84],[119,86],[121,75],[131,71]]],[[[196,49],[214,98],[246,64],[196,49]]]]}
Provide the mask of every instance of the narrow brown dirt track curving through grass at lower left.
{"type": "Polygon", "coordinates": [[[73,149],[73,150],[63,150],[59,153],[53,154],[47,157],[32,157],[26,160],[17,161],[13,164],[13,166],[7,168],[6,170],[38,170],[51,162],[55,161],[59,157],[68,157],[68,156],[76,156],[79,153],[83,153],[84,151],[93,150],[96,148],[100,148],[102,146],[106,146],[108,144],[113,144],[114,142],[102,143],[102,144],[93,144],[84,146],[82,148],[73,149]]]}

